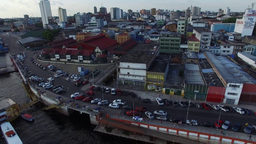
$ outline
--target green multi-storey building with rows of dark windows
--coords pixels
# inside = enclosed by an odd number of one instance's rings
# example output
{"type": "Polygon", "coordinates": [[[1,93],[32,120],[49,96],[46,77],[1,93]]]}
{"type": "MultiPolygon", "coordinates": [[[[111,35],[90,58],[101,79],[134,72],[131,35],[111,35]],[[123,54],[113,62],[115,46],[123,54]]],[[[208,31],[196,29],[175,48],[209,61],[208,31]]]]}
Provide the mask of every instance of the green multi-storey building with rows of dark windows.
{"type": "Polygon", "coordinates": [[[166,54],[180,54],[180,32],[160,32],[160,52],[166,54]]]}

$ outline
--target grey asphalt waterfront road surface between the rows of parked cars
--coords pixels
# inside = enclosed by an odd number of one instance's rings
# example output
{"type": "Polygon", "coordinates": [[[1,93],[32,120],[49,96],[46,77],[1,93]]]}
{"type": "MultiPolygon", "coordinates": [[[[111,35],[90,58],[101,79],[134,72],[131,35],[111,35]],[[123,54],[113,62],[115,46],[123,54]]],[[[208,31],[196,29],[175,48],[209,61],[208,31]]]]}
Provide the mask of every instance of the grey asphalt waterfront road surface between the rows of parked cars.
{"type": "MultiPolygon", "coordinates": [[[[11,38],[11,37],[7,37],[7,38],[11,38]]],[[[18,49],[17,46],[15,46],[15,44],[13,44],[13,45],[14,45],[14,47],[12,47],[11,49],[13,49],[13,50],[15,50],[15,48],[18,49]]],[[[26,65],[26,67],[28,67],[28,70],[33,71],[36,74],[36,76],[47,79],[49,77],[53,77],[53,75],[56,74],[56,72],[51,72],[52,74],[48,74],[48,70],[42,70],[41,68],[39,68],[38,66],[33,64],[29,59],[30,57],[34,56],[33,52],[26,51],[26,55],[27,55],[27,58],[25,58],[24,63],[26,65]]],[[[62,95],[64,97],[67,97],[67,98],[70,98],[70,95],[75,93],[75,92],[80,92],[80,93],[85,94],[86,89],[88,89],[89,86],[90,86],[90,83],[89,83],[89,84],[87,84],[86,86],[83,86],[83,87],[76,87],[76,86],[73,85],[73,83],[74,83],[73,81],[67,82],[65,80],[65,78],[66,77],[54,78],[54,86],[56,86],[56,85],[64,86],[64,89],[66,90],[66,93],[60,94],[60,95],[62,95]]],[[[92,82],[92,80],[90,80],[90,81],[92,82]]],[[[139,92],[139,94],[140,94],[141,98],[146,98],[147,97],[147,95],[145,93],[143,94],[143,92],[139,92]]],[[[100,92],[95,92],[95,95],[93,97],[103,99],[102,93],[100,93],[100,92]]],[[[169,119],[171,117],[176,117],[176,116],[182,117],[182,118],[184,118],[184,120],[186,120],[188,107],[181,108],[179,106],[178,107],[158,106],[158,104],[156,102],[152,102],[151,104],[146,104],[146,103],[141,103],[138,100],[138,98],[131,98],[130,96],[118,96],[118,95],[113,96],[111,94],[104,93],[104,100],[108,100],[109,103],[112,103],[112,101],[115,100],[115,99],[122,99],[122,100],[126,101],[126,104],[129,104],[129,105],[133,105],[133,101],[134,101],[134,107],[136,107],[136,106],[145,106],[145,107],[148,108],[148,111],[150,111],[152,113],[154,112],[154,110],[164,110],[164,111],[168,112],[168,121],[164,122],[164,123],[170,124],[169,119]]],[[[85,104],[84,102],[81,102],[81,100],[77,100],[76,102],[78,102],[80,104],[80,106],[82,106],[82,104],[85,104]]],[[[121,108],[116,110],[114,108],[108,108],[107,106],[105,106],[105,109],[110,114],[117,114],[118,113],[119,115],[120,114],[122,115],[122,112],[124,111],[121,108]]],[[[203,121],[215,122],[219,118],[219,114],[220,114],[220,111],[197,109],[197,108],[193,107],[193,108],[189,108],[188,120],[195,119],[195,120],[198,120],[198,122],[203,122],[203,121]]],[[[131,118],[132,116],[126,116],[126,117],[131,118]]],[[[146,118],[146,116],[144,114],[142,114],[142,117],[146,118]]],[[[240,115],[236,112],[233,112],[233,113],[221,112],[220,119],[221,120],[228,120],[228,121],[231,122],[230,128],[228,128],[228,130],[226,130],[227,132],[229,131],[230,133],[233,133],[233,134],[240,134],[240,135],[242,134],[244,136],[247,136],[247,134],[245,134],[243,132],[243,129],[245,127],[245,123],[248,122],[249,124],[251,124],[251,123],[256,124],[256,116],[255,115],[251,115],[251,116],[240,115]],[[242,124],[242,129],[240,130],[241,133],[233,132],[232,129],[231,129],[232,126],[237,122],[242,124]]],[[[158,120],[152,120],[152,121],[159,122],[158,120]]],[[[196,126],[189,126],[189,127],[196,127],[196,126]]],[[[201,126],[198,126],[197,128],[202,129],[201,126]]],[[[216,130],[214,128],[204,128],[204,129],[216,130]]],[[[219,130],[219,131],[221,131],[221,130],[219,130]]],[[[254,131],[253,134],[256,134],[256,132],[254,131]]]]}

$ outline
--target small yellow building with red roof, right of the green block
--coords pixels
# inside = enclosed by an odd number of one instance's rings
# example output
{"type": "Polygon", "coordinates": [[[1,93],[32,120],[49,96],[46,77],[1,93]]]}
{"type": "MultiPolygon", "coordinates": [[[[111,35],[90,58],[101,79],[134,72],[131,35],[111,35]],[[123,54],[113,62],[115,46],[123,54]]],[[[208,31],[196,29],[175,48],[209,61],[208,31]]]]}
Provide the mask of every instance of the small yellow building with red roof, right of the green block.
{"type": "Polygon", "coordinates": [[[195,37],[195,34],[192,34],[191,37],[186,37],[188,40],[188,51],[189,52],[199,52],[200,49],[200,40],[195,37]]]}

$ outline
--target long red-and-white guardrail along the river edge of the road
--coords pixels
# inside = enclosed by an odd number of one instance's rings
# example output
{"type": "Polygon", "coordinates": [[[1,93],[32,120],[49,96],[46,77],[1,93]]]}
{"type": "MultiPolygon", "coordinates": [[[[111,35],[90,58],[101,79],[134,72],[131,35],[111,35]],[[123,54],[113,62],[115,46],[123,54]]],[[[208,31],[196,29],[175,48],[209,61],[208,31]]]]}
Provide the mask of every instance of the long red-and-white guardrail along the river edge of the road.
{"type": "Polygon", "coordinates": [[[189,131],[193,131],[193,132],[202,132],[205,134],[214,134],[214,135],[218,135],[218,136],[226,136],[229,138],[237,138],[237,139],[241,139],[241,140],[251,140],[252,142],[256,141],[256,138],[251,138],[249,139],[249,136],[241,136],[241,135],[236,135],[236,134],[228,134],[226,132],[226,134],[221,134],[221,132],[218,131],[213,131],[213,130],[204,130],[204,129],[199,129],[199,128],[191,128],[188,126],[178,126],[178,124],[165,124],[165,123],[160,123],[160,122],[152,122],[150,120],[132,120],[132,118],[126,118],[126,117],[122,117],[122,116],[115,116],[115,115],[108,115],[109,118],[116,118],[116,119],[120,119],[120,120],[127,120],[127,121],[131,121],[131,122],[139,122],[142,124],[150,124],[150,125],[156,125],[156,126],[163,126],[163,127],[168,127],[168,128],[177,128],[177,129],[181,129],[181,130],[189,130],[189,131]]]}

